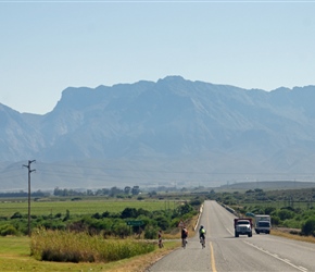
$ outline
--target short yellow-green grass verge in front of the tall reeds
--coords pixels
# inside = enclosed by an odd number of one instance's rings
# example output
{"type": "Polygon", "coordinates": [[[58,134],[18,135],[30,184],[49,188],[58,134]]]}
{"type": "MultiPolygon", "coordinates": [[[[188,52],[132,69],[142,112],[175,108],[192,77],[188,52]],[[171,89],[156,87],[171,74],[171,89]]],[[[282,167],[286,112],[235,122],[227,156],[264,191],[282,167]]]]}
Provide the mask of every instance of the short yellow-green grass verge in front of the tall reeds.
{"type": "Polygon", "coordinates": [[[27,236],[0,237],[0,271],[109,271],[109,272],[140,272],[144,271],[150,264],[179,247],[179,242],[166,242],[164,248],[158,248],[150,254],[136,256],[121,261],[102,262],[51,262],[38,261],[30,257],[30,239],[27,236]]]}

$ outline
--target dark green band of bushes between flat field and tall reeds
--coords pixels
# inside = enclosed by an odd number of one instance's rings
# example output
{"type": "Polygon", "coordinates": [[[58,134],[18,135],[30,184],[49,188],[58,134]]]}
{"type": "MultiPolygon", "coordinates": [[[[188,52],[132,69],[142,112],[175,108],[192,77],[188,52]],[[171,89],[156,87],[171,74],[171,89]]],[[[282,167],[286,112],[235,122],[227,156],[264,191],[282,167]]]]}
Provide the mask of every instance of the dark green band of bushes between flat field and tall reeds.
{"type": "MultiPolygon", "coordinates": [[[[32,215],[32,230],[45,227],[46,230],[71,230],[102,234],[106,236],[126,237],[142,234],[146,238],[156,238],[159,230],[164,232],[177,227],[181,220],[188,220],[198,213],[199,203],[186,202],[174,210],[148,211],[139,208],[125,208],[122,212],[97,212],[89,215],[72,215],[67,210],[65,214],[32,215]],[[129,226],[128,221],[141,221],[140,226],[129,226]]],[[[10,218],[0,218],[0,235],[27,234],[27,214],[15,212],[10,218]]]]}

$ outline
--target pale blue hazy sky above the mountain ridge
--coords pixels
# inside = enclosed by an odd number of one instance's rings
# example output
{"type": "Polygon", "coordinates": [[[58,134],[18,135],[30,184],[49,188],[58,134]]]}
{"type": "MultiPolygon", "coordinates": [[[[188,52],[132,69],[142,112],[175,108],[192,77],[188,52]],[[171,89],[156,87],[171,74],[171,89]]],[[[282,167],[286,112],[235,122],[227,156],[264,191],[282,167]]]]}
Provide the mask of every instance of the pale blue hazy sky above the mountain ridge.
{"type": "Polygon", "coordinates": [[[315,1],[1,1],[0,103],[52,111],[68,86],[167,75],[315,85],[315,1]]]}

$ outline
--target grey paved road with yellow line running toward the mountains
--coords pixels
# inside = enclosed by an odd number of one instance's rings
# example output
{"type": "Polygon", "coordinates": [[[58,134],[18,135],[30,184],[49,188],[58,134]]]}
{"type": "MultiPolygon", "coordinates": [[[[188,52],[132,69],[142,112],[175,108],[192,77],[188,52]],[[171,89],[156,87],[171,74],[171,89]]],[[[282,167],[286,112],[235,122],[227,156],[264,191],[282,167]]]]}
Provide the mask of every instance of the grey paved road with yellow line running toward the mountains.
{"type": "Polygon", "coordinates": [[[189,237],[186,249],[176,249],[147,272],[315,271],[315,244],[254,232],[252,237],[236,238],[234,218],[216,201],[205,201],[200,220],[206,230],[205,248],[198,235],[189,237]]]}

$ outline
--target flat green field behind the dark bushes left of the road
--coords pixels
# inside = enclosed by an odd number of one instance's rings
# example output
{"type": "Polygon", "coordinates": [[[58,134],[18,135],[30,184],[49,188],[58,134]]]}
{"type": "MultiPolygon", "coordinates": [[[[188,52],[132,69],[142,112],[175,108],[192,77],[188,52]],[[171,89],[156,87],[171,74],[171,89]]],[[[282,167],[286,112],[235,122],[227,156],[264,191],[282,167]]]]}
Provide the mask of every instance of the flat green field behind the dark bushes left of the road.
{"type": "MultiPolygon", "coordinates": [[[[33,215],[49,215],[49,214],[65,214],[66,210],[71,214],[84,215],[93,213],[121,212],[125,208],[142,208],[148,211],[174,209],[177,207],[175,201],[164,200],[78,200],[78,201],[32,201],[30,214],[33,215]]],[[[0,217],[12,217],[15,212],[27,214],[28,202],[24,200],[5,200],[0,201],[0,217]]]]}

